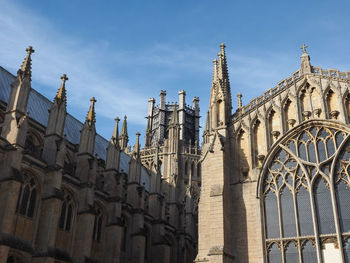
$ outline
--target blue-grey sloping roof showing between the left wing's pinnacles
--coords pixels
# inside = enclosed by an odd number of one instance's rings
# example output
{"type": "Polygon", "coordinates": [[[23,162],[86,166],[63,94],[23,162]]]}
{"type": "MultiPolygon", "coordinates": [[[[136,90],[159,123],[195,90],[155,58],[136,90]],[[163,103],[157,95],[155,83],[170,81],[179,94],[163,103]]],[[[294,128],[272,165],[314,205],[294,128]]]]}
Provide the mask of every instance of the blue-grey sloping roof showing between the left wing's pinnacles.
{"type": "MultiPolygon", "coordinates": [[[[0,100],[4,101],[6,104],[9,100],[11,84],[14,80],[15,76],[0,66],[0,100]]],[[[51,108],[52,104],[53,102],[32,88],[27,104],[29,117],[46,127],[49,120],[49,109],[51,108]]],[[[80,131],[82,128],[83,123],[68,113],[64,126],[64,134],[66,134],[67,140],[72,144],[79,144],[80,131]]],[[[108,140],[103,138],[101,135],[96,134],[94,153],[103,160],[106,160],[106,149],[108,143],[108,140]]],[[[120,171],[129,173],[130,159],[131,157],[129,155],[124,152],[121,153],[120,171]]]]}

